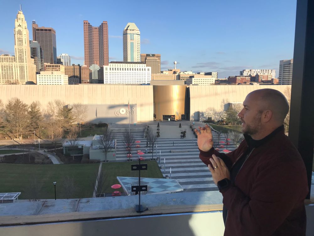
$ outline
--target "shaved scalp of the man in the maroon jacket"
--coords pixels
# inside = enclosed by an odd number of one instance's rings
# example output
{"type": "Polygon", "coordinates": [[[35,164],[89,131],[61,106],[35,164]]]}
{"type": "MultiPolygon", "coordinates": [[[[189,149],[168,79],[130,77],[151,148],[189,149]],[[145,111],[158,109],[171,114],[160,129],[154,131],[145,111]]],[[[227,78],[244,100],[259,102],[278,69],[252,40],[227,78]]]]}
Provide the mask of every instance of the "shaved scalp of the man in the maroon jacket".
{"type": "Polygon", "coordinates": [[[273,112],[274,121],[279,124],[284,123],[284,118],[286,118],[289,111],[289,104],[284,94],[275,89],[263,88],[255,90],[249,95],[259,100],[262,111],[271,110],[273,112]]]}

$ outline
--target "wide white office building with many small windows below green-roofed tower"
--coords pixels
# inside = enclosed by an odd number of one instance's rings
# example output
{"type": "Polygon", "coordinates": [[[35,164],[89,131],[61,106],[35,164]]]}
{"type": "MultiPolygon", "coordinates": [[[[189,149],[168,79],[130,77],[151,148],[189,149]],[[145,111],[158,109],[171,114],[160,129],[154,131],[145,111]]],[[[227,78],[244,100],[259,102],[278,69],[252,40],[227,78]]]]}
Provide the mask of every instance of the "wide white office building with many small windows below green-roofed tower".
{"type": "Polygon", "coordinates": [[[104,66],[105,84],[149,84],[151,68],[145,62],[111,61],[104,66]]]}

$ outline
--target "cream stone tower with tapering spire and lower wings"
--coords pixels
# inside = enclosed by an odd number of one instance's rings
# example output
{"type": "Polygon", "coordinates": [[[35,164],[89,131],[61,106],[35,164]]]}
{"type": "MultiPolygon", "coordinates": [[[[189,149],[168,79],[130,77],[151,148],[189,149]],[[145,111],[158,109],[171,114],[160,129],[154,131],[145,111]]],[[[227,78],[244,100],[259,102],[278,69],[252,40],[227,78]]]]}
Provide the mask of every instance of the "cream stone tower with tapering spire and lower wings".
{"type": "Polygon", "coordinates": [[[18,11],[14,28],[15,56],[0,56],[0,84],[36,83],[36,65],[30,57],[30,42],[27,23],[22,9],[18,11]]]}

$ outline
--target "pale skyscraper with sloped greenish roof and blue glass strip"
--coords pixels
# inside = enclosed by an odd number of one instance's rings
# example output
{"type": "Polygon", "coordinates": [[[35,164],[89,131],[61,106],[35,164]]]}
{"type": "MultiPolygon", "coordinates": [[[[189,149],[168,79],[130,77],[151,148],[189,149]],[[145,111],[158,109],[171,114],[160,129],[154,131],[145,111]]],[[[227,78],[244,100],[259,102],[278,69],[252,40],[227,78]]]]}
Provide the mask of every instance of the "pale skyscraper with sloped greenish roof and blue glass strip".
{"type": "Polygon", "coordinates": [[[123,61],[141,61],[141,36],[134,23],[127,23],[123,31],[123,61]]]}

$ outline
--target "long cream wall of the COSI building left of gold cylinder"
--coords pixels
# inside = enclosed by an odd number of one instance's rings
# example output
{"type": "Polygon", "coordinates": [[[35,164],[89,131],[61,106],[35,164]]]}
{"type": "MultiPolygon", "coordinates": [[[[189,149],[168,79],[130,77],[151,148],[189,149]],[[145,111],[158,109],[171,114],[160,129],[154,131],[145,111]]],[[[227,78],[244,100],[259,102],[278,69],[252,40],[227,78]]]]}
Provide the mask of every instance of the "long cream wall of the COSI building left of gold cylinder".
{"type": "MultiPolygon", "coordinates": [[[[154,118],[152,85],[0,85],[0,99],[4,104],[11,98],[24,103],[39,101],[46,109],[49,102],[59,99],[65,104],[137,104],[137,120],[154,118]]],[[[97,113],[94,114],[97,116],[97,113]]]]}

